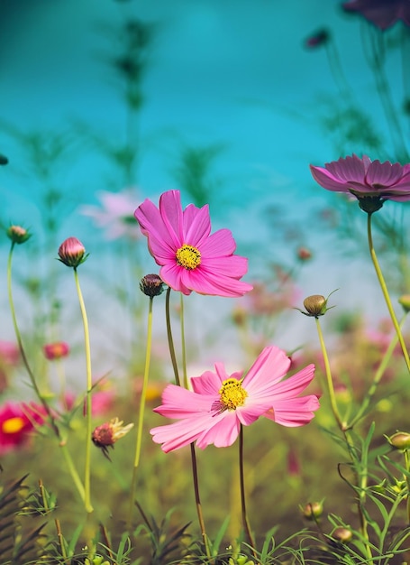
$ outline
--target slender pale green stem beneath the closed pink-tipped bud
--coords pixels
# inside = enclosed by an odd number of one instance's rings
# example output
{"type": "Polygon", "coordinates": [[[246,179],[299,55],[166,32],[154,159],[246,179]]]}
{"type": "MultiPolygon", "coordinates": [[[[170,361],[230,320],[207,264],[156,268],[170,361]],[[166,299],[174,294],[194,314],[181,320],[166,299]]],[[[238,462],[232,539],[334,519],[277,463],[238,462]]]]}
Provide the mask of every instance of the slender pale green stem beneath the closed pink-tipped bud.
{"type": "Polygon", "coordinates": [[[77,295],[79,307],[81,310],[81,316],[83,319],[84,327],[84,344],[86,348],[86,372],[87,372],[87,395],[86,395],[86,465],[84,470],[84,505],[86,507],[86,512],[93,512],[94,508],[91,505],[91,435],[92,429],[92,414],[91,414],[91,393],[93,389],[93,378],[91,373],[91,350],[90,350],[90,337],[88,329],[88,319],[86,305],[84,304],[83,293],[81,292],[81,287],[79,285],[77,268],[74,267],[74,280],[76,282],[77,295]]]}

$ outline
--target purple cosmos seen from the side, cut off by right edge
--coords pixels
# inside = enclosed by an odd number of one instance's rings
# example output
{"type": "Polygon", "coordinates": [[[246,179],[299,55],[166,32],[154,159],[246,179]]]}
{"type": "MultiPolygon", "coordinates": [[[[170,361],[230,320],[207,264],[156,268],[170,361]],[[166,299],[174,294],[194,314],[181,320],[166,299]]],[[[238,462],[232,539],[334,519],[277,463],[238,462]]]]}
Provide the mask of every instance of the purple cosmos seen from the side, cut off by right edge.
{"type": "Polygon", "coordinates": [[[374,212],[385,200],[410,200],[410,164],[370,161],[357,155],[326,162],[323,167],[310,165],[314,181],[323,189],[347,192],[359,199],[360,208],[374,212]]]}

